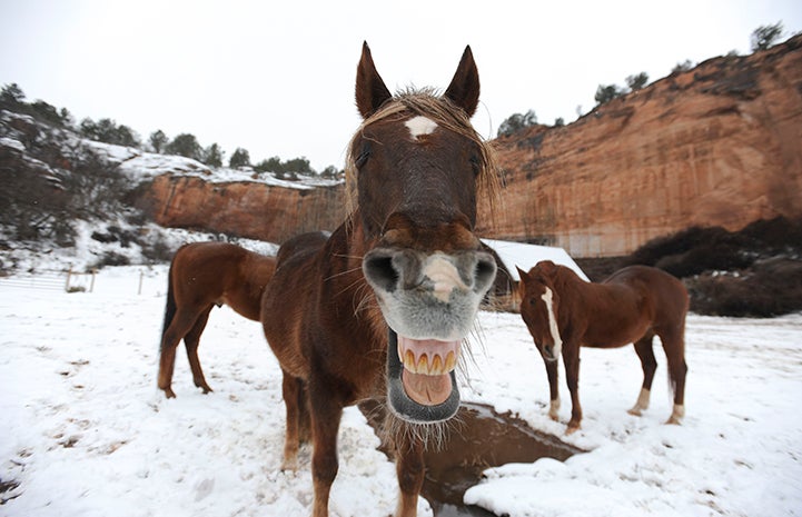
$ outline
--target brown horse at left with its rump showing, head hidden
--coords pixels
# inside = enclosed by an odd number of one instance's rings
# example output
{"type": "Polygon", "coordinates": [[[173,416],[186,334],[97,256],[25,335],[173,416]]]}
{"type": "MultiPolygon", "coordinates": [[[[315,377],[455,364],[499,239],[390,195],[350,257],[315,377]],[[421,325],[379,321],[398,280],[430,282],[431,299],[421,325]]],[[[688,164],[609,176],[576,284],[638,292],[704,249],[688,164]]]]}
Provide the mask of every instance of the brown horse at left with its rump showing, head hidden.
{"type": "Polygon", "coordinates": [[[170,264],[165,324],[161,329],[159,388],[174,398],[172,370],[181,339],[192,369],[195,386],[205,394],[211,388],[198,360],[198,341],[212,307],[228,305],[255,321],[265,286],[276,270],[276,258],[226,242],[194,242],[176,251],[170,264]]]}

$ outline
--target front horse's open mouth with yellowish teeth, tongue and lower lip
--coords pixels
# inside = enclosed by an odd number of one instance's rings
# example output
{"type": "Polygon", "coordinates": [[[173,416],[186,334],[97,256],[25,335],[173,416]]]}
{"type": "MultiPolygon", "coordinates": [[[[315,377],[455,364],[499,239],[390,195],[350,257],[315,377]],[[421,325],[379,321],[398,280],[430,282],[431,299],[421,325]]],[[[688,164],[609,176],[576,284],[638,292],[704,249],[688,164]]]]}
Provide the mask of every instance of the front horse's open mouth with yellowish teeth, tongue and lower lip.
{"type": "Polygon", "coordinates": [[[389,330],[387,390],[390,409],[405,420],[447,420],[459,408],[454,368],[459,341],[416,340],[389,330]]]}

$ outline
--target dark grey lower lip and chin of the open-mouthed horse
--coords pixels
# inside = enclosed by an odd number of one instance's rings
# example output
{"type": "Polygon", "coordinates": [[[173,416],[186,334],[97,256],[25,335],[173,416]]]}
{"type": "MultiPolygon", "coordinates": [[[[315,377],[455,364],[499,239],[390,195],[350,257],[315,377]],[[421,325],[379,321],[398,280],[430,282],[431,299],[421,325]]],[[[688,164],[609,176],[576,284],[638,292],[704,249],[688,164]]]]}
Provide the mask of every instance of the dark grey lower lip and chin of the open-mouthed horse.
{"type": "Polygon", "coordinates": [[[448,374],[452,379],[452,392],[443,404],[424,406],[416,402],[409,398],[402,384],[404,365],[398,358],[398,335],[389,328],[387,332],[387,400],[393,412],[414,424],[433,424],[448,420],[456,415],[459,409],[459,390],[454,370],[448,374]]]}

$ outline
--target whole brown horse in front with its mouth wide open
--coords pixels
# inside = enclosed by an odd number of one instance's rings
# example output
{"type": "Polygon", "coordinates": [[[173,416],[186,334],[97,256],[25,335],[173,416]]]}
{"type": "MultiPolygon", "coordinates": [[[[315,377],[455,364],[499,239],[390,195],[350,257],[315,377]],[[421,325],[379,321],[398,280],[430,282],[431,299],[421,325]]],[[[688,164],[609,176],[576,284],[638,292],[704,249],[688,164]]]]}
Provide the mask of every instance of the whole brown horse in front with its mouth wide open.
{"type": "Polygon", "coordinates": [[[364,44],[350,215],[328,239],[279,250],[261,320],[285,374],[285,468],[296,466],[308,405],[315,517],[328,515],[345,406],[388,407],[403,517],[416,514],[426,430],[458,408],[454,366],[496,274],[474,235],[477,195],[497,187],[492,150],[469,122],[478,93],[469,48],[443,96],[394,97],[364,44]]]}

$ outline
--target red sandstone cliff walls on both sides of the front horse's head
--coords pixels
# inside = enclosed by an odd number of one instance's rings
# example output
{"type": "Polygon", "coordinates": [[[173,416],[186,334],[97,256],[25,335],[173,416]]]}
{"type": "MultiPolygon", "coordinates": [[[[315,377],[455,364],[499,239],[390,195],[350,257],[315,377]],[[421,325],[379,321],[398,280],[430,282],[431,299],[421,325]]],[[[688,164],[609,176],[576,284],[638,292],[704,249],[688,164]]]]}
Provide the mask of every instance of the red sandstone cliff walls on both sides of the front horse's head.
{"type": "MultiPolygon", "coordinates": [[[[529,128],[495,143],[505,187],[492,221],[481,203],[486,237],[605,257],[691,226],[737,230],[802,217],[802,36],[749,57],[707,60],[570,126],[529,128]]],[[[341,186],[165,176],[142,203],[164,226],[273,242],[331,230],[344,217],[341,186]]]]}

